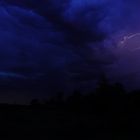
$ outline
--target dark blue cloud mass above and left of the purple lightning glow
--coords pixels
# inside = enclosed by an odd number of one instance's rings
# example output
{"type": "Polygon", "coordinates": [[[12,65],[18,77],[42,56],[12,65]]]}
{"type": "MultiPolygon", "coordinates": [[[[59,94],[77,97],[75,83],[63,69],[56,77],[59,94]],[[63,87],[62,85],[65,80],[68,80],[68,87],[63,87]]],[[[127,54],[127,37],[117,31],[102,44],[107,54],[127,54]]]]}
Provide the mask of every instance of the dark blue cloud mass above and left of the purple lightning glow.
{"type": "Polygon", "coordinates": [[[104,42],[122,30],[138,30],[139,4],[6,0],[0,6],[0,70],[44,78],[51,90],[90,89],[115,61],[112,46],[104,42]]]}

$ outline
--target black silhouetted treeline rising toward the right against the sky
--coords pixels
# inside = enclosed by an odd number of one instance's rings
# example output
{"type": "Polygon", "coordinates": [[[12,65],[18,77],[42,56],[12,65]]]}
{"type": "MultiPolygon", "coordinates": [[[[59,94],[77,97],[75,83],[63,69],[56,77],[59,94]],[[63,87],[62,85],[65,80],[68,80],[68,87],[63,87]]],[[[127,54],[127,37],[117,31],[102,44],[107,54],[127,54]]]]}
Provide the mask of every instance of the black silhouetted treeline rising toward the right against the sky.
{"type": "Polygon", "coordinates": [[[109,84],[107,81],[101,81],[94,92],[81,94],[76,90],[67,97],[64,96],[63,92],[59,92],[56,96],[45,101],[33,99],[30,105],[74,113],[139,112],[140,91],[128,93],[120,83],[109,84]]]}

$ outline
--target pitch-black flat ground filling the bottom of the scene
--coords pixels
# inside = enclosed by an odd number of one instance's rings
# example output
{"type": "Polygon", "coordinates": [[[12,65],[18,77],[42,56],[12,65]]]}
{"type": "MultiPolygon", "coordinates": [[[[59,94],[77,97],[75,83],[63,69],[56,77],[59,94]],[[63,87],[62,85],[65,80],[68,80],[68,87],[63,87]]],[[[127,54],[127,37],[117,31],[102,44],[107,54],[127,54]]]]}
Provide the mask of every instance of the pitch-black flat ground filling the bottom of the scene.
{"type": "Polygon", "coordinates": [[[140,139],[140,94],[0,105],[0,134],[11,139],[140,139]]]}

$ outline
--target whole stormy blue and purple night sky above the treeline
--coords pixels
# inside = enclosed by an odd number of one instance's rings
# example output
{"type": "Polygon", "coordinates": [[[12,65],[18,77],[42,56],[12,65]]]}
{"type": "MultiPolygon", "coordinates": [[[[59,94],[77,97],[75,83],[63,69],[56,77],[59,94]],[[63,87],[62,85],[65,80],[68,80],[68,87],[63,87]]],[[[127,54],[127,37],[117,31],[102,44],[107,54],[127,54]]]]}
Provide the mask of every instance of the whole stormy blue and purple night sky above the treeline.
{"type": "Polygon", "coordinates": [[[1,0],[0,85],[47,92],[6,92],[0,101],[89,92],[102,74],[138,88],[139,7],[139,0],[1,0]]]}

